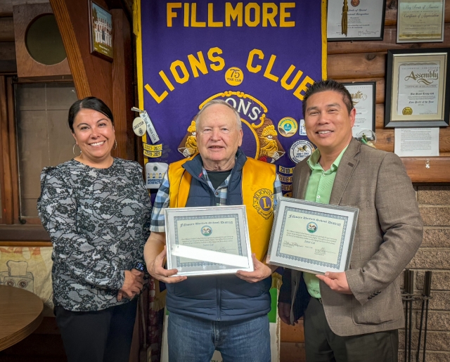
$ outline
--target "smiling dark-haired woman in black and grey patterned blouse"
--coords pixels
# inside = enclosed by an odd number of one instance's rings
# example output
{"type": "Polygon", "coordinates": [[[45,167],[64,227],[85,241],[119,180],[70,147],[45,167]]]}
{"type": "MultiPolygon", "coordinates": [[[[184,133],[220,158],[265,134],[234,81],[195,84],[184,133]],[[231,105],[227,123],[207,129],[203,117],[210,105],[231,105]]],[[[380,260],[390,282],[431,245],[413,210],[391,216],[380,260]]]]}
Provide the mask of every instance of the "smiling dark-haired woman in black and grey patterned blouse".
{"type": "Polygon", "coordinates": [[[129,360],[151,203],[142,167],[111,156],[111,110],[75,102],[69,127],[79,155],[41,173],[37,201],[53,243],[53,302],[68,361],[129,360]]]}

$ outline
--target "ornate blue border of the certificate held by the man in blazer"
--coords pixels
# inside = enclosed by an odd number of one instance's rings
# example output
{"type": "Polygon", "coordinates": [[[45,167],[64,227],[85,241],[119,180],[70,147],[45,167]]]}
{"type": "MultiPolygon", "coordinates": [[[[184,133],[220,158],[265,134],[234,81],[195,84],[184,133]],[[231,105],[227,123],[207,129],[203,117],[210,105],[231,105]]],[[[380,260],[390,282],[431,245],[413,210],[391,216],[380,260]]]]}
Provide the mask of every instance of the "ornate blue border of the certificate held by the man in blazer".
{"type": "Polygon", "coordinates": [[[298,209],[296,207],[288,207],[287,206],[284,209],[283,223],[281,224],[281,233],[280,233],[281,238],[283,238],[284,227],[285,227],[285,222],[286,222],[286,216],[287,216],[288,212],[295,212],[297,214],[307,214],[307,215],[312,215],[312,216],[323,216],[323,217],[327,217],[327,218],[330,218],[330,219],[342,220],[344,222],[344,227],[342,228],[343,232],[342,232],[342,235],[341,235],[341,238],[340,238],[338,263],[337,264],[325,263],[323,261],[318,261],[318,260],[314,260],[314,259],[307,259],[307,258],[302,258],[302,257],[296,257],[295,255],[281,253],[280,249],[281,249],[282,242],[278,243],[278,247],[276,249],[276,256],[284,258],[284,259],[291,259],[291,260],[296,260],[296,261],[302,261],[302,262],[307,263],[307,264],[327,266],[329,268],[338,269],[339,266],[340,266],[340,259],[342,258],[342,249],[344,247],[345,231],[347,230],[347,223],[348,223],[348,219],[349,219],[348,216],[342,216],[342,215],[336,215],[336,214],[328,214],[326,212],[316,212],[316,211],[305,210],[305,209],[298,209]]]}

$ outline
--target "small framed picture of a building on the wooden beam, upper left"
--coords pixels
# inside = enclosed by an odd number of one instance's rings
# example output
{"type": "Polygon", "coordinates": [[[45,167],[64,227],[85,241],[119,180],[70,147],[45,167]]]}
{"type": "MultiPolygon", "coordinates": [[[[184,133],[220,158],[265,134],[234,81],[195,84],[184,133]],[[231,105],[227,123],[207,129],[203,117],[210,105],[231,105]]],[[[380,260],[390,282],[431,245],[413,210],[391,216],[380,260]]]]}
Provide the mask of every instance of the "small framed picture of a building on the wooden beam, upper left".
{"type": "Polygon", "coordinates": [[[92,0],[88,0],[88,5],[91,54],[112,62],[113,16],[92,0]]]}

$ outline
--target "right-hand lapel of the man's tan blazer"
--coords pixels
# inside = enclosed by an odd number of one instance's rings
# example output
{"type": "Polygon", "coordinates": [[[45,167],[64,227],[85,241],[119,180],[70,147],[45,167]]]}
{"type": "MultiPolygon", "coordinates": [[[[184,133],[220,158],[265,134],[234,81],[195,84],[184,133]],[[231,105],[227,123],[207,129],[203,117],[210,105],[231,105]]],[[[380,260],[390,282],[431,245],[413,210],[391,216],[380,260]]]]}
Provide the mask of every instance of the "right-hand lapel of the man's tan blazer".
{"type": "Polygon", "coordinates": [[[352,138],[347,150],[345,150],[342,159],[340,160],[338,172],[336,173],[335,182],[333,184],[333,190],[331,190],[330,204],[339,205],[342,195],[344,194],[345,188],[349,183],[350,177],[352,176],[356,165],[359,160],[356,160],[354,156],[359,153],[359,148],[361,143],[352,138]]]}

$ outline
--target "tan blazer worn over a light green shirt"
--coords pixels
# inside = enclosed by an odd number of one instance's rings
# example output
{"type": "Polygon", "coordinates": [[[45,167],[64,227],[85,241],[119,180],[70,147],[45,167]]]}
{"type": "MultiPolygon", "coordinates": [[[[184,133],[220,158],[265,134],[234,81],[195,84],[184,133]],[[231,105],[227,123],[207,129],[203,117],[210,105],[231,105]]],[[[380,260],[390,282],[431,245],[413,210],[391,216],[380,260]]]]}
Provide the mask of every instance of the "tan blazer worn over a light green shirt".
{"type": "MultiPolygon", "coordinates": [[[[303,160],[294,170],[293,197],[304,199],[311,169],[303,160]]],[[[397,277],[423,237],[422,219],[411,179],[394,153],[352,139],[340,161],[330,204],[359,208],[347,281],[353,295],[320,282],[328,325],[337,335],[361,335],[404,325],[397,277]]],[[[301,271],[286,269],[280,301],[304,299],[301,271]]]]}

